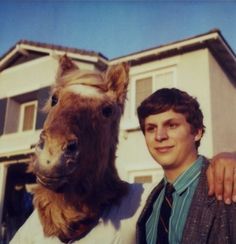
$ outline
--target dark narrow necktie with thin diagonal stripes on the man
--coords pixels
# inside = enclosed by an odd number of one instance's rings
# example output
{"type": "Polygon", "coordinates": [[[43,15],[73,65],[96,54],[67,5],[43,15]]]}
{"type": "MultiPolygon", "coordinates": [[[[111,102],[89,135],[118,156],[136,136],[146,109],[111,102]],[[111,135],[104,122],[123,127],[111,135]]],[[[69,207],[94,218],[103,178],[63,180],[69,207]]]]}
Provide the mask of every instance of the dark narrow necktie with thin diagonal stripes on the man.
{"type": "Polygon", "coordinates": [[[168,244],[169,219],[171,215],[173,197],[175,188],[170,183],[166,184],[165,196],[160,209],[159,222],[157,227],[157,244],[168,244]]]}

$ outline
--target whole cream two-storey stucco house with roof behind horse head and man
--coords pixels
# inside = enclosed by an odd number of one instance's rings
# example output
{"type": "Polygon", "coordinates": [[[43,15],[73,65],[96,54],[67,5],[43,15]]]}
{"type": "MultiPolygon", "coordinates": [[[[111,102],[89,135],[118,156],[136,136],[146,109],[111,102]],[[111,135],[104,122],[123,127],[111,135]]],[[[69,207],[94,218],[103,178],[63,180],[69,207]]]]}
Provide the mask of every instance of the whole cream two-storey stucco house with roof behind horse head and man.
{"type": "Polygon", "coordinates": [[[41,108],[54,82],[58,57],[65,53],[80,69],[103,71],[123,61],[131,65],[117,152],[124,180],[151,182],[162,175],[149,156],[136,116],[140,101],[158,88],[177,87],[198,98],[206,125],[200,153],[235,151],[236,56],[220,31],[113,60],[96,52],[21,41],[0,59],[0,222],[9,187],[34,182],[25,167],[42,128],[41,108]]]}

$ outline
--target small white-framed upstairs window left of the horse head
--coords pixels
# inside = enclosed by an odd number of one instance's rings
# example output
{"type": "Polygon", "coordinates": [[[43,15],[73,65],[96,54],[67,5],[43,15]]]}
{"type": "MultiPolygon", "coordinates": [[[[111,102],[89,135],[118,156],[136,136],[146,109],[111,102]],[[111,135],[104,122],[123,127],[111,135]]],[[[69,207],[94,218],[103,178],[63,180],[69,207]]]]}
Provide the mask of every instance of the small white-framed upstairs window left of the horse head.
{"type": "Polygon", "coordinates": [[[34,130],[36,112],[37,112],[37,101],[21,104],[19,131],[34,130]]]}

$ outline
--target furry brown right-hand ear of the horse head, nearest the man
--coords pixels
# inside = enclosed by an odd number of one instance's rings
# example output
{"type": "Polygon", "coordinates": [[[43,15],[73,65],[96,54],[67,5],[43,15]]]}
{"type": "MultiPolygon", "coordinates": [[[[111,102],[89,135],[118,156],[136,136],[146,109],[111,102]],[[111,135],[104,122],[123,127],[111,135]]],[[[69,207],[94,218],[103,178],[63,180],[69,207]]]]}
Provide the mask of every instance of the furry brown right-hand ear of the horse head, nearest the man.
{"type": "Polygon", "coordinates": [[[129,65],[120,63],[108,68],[106,72],[108,90],[116,94],[117,102],[124,104],[129,83],[129,65]]]}

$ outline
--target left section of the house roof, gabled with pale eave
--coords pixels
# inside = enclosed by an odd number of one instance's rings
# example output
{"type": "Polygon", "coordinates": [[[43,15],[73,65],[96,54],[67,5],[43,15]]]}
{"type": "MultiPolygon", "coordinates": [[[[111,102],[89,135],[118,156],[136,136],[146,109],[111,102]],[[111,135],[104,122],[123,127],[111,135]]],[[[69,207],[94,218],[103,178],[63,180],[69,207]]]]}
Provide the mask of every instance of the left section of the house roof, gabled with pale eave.
{"type": "Polygon", "coordinates": [[[101,68],[107,66],[108,59],[103,54],[78,48],[64,47],[29,40],[21,40],[0,57],[0,71],[47,55],[64,55],[84,62],[95,63],[101,68]]]}

